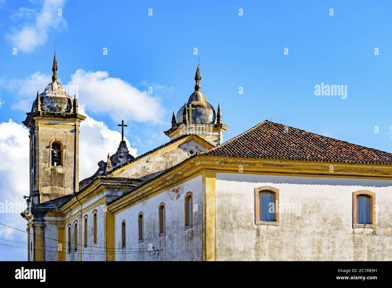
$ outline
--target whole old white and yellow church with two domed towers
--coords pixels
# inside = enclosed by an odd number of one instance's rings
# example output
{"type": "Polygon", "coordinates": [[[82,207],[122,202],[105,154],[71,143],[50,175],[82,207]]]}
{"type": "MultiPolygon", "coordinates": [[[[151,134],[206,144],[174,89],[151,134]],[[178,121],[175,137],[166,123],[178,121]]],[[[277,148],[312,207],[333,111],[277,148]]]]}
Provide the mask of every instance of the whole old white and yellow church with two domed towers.
{"type": "Polygon", "coordinates": [[[167,143],[121,139],[80,181],[85,116],[52,70],[23,121],[29,261],[392,260],[391,153],[262,119],[223,141],[198,66],[167,143]]]}

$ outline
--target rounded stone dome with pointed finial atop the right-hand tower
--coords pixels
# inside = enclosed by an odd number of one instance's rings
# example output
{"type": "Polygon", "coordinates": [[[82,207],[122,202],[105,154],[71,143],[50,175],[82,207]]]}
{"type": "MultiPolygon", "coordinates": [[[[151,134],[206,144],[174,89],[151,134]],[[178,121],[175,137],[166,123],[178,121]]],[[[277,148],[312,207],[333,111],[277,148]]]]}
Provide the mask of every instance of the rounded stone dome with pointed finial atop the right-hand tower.
{"type": "MultiPolygon", "coordinates": [[[[186,103],[187,107],[189,107],[190,104],[192,105],[192,107],[194,107],[194,110],[192,110],[192,123],[214,124],[216,123],[215,109],[210,103],[206,101],[204,94],[200,91],[199,82],[201,80],[201,76],[199,66],[197,67],[195,80],[195,91],[191,94],[191,96],[189,96],[188,102],[186,103]]],[[[184,105],[177,112],[177,123],[183,122],[183,112],[184,105]]]]}

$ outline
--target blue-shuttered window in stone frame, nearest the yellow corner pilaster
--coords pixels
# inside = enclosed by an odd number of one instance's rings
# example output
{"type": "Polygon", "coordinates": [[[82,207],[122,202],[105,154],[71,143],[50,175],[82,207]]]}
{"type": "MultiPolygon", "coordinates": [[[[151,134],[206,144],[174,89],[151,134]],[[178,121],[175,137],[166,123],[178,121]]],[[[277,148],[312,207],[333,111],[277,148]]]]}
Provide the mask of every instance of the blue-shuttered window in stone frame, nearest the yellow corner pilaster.
{"type": "Polygon", "coordinates": [[[279,226],[279,189],[262,186],[255,189],[256,225],[279,226]]]}

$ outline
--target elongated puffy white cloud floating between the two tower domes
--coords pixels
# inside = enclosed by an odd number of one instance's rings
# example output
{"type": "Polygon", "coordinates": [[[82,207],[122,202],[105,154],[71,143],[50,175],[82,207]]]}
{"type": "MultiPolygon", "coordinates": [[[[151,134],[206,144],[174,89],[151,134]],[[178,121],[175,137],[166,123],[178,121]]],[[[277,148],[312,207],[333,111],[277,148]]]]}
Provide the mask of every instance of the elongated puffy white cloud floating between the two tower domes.
{"type": "Polygon", "coordinates": [[[162,123],[164,109],[158,97],[140,91],[120,78],[109,77],[106,71],[78,69],[68,85],[78,85],[78,101],[88,111],[107,114],[114,121],[149,121],[162,123]]]}

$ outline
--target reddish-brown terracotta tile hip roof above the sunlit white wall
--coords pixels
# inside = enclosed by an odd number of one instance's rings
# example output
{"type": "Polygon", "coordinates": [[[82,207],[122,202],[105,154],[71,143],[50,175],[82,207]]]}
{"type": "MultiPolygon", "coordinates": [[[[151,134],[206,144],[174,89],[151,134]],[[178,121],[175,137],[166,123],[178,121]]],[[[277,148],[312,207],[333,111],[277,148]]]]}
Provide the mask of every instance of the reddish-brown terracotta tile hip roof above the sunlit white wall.
{"type": "Polygon", "coordinates": [[[392,165],[392,154],[271,121],[199,155],[392,165]]]}

